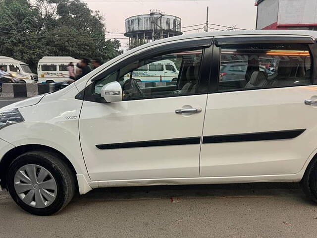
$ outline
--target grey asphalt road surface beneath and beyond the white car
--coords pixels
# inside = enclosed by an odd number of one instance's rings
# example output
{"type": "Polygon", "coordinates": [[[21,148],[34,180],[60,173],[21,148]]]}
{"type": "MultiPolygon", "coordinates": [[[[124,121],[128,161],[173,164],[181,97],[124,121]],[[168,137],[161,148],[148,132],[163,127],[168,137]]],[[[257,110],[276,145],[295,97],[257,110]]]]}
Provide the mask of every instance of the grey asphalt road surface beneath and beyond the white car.
{"type": "MultiPolygon", "coordinates": [[[[14,101],[0,100],[0,107],[14,101]]],[[[0,238],[315,238],[317,205],[298,183],[95,189],[50,217],[0,191],[0,238]]]]}

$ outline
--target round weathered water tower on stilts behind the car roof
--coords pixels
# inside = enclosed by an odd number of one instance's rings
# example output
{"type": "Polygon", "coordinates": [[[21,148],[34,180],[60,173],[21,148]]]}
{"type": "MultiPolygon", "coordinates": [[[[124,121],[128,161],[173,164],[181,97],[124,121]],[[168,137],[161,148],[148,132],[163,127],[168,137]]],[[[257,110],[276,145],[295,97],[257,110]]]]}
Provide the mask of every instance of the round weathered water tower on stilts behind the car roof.
{"type": "Polygon", "coordinates": [[[130,45],[182,34],[181,19],[177,16],[163,14],[158,10],[150,11],[150,14],[147,15],[131,16],[125,19],[124,35],[129,37],[130,45]]]}

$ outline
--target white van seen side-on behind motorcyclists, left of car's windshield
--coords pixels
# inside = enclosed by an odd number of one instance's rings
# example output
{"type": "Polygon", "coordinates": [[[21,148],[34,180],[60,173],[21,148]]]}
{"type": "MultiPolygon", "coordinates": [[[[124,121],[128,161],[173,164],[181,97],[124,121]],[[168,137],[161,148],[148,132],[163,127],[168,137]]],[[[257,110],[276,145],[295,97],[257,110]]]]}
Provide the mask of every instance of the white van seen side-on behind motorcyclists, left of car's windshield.
{"type": "Polygon", "coordinates": [[[39,83],[61,82],[69,79],[68,64],[76,64],[80,60],[68,56],[51,57],[45,56],[38,62],[39,83]]]}

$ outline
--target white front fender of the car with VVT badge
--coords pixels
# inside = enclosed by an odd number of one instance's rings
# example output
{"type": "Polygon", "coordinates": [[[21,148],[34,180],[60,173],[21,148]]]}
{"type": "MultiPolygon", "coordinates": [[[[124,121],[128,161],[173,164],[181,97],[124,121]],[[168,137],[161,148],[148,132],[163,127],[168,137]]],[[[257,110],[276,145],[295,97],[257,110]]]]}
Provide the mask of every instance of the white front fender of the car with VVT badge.
{"type": "Polygon", "coordinates": [[[69,159],[77,174],[89,181],[81,152],[78,119],[83,101],[74,99],[75,85],[46,95],[40,104],[19,108],[22,123],[0,130],[0,138],[14,146],[38,144],[52,147],[69,159]],[[72,118],[71,118],[72,117],[72,118]]]}

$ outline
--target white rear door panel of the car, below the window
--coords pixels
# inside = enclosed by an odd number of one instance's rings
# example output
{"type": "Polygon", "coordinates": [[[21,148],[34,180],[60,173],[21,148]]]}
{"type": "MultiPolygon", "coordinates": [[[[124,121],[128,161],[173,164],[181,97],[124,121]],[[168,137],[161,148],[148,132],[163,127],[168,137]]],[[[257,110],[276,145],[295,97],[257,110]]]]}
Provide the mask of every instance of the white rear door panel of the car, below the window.
{"type": "Polygon", "coordinates": [[[210,94],[204,136],[305,129],[292,139],[203,143],[202,177],[299,173],[317,147],[317,86],[210,94]]]}

